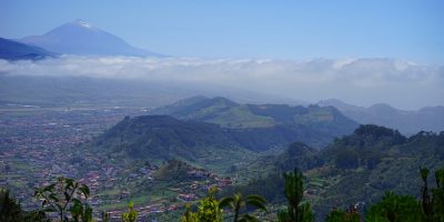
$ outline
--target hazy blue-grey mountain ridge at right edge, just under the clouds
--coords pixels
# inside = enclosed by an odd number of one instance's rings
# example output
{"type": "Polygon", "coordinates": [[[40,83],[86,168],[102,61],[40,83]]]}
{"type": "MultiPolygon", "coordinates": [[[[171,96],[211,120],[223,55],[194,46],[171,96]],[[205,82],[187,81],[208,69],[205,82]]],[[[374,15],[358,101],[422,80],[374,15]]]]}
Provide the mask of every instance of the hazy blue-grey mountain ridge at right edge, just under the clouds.
{"type": "Polygon", "coordinates": [[[384,103],[373,104],[369,108],[356,107],[336,99],[322,100],[317,104],[321,107],[334,107],[359,123],[384,125],[397,129],[404,134],[444,130],[444,107],[442,105],[426,107],[417,111],[405,111],[384,103]]]}

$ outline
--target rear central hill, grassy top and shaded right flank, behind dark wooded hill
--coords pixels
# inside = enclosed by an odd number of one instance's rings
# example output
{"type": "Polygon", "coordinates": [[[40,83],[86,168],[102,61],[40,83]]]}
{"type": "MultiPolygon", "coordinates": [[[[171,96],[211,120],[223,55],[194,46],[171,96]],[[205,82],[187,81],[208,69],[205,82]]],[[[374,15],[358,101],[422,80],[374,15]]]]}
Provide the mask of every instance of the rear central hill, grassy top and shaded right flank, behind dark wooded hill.
{"type": "Polygon", "coordinates": [[[301,141],[323,148],[333,138],[352,133],[359,127],[355,121],[332,107],[239,104],[220,97],[190,98],[155,109],[151,114],[168,114],[181,120],[214,123],[235,131],[245,142],[259,140],[260,142],[251,142],[260,144],[256,147],[259,150],[272,147],[276,139],[285,145],[301,141]]]}

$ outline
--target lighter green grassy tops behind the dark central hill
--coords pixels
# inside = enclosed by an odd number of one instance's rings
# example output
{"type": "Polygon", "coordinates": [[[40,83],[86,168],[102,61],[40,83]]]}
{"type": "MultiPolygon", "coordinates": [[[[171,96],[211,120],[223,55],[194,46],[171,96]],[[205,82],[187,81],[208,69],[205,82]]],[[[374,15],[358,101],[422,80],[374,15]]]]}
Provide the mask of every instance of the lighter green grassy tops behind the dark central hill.
{"type": "MultiPolygon", "coordinates": [[[[240,104],[226,98],[193,97],[153,110],[179,119],[216,123],[225,128],[266,128],[276,124],[354,123],[335,108],[287,104],[240,104]],[[239,121],[242,119],[242,121],[239,121]],[[262,124],[254,124],[260,121],[262,124]],[[242,122],[236,124],[236,122],[242,122]],[[246,123],[246,124],[245,124],[246,123]]],[[[354,128],[353,128],[354,130],[354,128]]],[[[353,131],[352,130],[352,131],[353,131]]]]}

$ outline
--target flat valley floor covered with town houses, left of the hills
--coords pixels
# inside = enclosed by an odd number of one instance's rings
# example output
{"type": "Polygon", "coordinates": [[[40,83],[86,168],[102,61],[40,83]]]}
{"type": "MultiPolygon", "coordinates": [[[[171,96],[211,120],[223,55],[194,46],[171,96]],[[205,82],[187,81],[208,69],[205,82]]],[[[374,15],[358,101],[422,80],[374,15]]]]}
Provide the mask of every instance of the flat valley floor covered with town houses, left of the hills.
{"type": "Polygon", "coordinates": [[[61,175],[89,185],[93,193],[90,204],[97,209],[97,216],[101,211],[120,216],[130,200],[138,205],[142,218],[167,212],[174,214],[184,201],[203,196],[208,186],[231,184],[230,179],[193,167],[189,169],[193,172],[181,178],[179,183],[175,178],[158,179],[158,175],[162,178],[162,174],[168,176],[172,173],[171,170],[164,172],[167,167],[160,168],[162,162],[159,160],[151,163],[112,159],[81,149],[81,144],[90,142],[124,117],[142,115],[145,110],[17,109],[4,108],[0,115],[0,186],[13,191],[26,210],[39,206],[33,198],[36,188],[61,175]]]}

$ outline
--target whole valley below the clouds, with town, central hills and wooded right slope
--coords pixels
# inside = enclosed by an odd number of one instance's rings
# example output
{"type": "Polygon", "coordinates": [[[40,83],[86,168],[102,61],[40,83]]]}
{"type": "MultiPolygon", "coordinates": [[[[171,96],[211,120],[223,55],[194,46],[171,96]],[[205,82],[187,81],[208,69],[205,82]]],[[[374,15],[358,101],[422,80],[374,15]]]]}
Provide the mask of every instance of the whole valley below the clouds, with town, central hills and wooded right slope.
{"type": "Polygon", "coordinates": [[[1,113],[0,185],[24,209],[38,208],[34,188],[63,175],[90,186],[97,216],[117,219],[133,201],[142,219],[175,220],[218,186],[222,196],[264,196],[274,209],[265,220],[283,206],[282,173],[299,168],[322,221],[333,206],[364,212],[385,190],[417,195],[416,169],[444,167],[442,133],[405,138],[332,108],[198,97],[153,110],[6,105],[1,113]]]}

